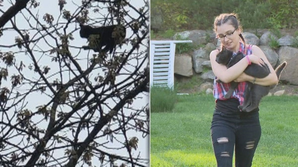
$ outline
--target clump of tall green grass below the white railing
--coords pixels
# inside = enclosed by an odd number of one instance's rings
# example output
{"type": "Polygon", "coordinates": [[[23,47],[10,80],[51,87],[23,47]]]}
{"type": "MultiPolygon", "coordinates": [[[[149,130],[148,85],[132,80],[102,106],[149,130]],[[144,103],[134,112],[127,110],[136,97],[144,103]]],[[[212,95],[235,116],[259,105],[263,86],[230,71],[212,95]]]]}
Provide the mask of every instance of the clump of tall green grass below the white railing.
{"type": "Polygon", "coordinates": [[[176,90],[152,86],[150,88],[150,112],[172,111],[176,103],[176,90]]]}

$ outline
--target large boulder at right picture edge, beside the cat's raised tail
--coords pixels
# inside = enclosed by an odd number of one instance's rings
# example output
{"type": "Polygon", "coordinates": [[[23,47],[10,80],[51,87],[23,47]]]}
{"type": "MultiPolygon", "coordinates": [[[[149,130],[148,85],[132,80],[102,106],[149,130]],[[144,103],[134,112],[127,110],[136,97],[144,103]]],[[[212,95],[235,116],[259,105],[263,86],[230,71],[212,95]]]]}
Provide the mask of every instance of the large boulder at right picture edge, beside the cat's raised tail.
{"type": "Polygon", "coordinates": [[[278,51],[280,62],[287,62],[287,66],[281,73],[280,80],[298,85],[298,49],[289,46],[280,47],[278,51]]]}

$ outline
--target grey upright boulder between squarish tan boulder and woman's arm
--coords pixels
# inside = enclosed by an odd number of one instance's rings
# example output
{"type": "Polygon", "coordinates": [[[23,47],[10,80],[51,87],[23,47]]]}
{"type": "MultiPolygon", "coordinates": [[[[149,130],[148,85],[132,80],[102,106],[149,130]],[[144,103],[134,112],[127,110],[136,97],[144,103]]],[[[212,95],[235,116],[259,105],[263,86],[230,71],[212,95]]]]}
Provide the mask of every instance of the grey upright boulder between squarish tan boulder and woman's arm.
{"type": "Polygon", "coordinates": [[[203,72],[203,62],[209,59],[209,54],[203,48],[196,50],[193,52],[193,68],[195,69],[196,73],[203,72]]]}

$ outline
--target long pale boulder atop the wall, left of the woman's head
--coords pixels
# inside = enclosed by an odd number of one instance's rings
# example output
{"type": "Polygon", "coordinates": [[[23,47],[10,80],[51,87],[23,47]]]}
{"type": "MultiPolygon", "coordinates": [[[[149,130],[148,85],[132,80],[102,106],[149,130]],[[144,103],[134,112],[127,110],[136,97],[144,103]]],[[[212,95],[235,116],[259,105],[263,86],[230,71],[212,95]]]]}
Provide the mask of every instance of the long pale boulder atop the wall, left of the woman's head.
{"type": "MultiPolygon", "coordinates": [[[[173,36],[174,40],[179,40],[178,36],[180,36],[182,39],[192,40],[193,45],[204,45],[207,44],[207,31],[205,30],[192,30],[192,31],[183,31],[176,33],[173,36]]],[[[210,35],[209,35],[210,36],[210,35]]]]}

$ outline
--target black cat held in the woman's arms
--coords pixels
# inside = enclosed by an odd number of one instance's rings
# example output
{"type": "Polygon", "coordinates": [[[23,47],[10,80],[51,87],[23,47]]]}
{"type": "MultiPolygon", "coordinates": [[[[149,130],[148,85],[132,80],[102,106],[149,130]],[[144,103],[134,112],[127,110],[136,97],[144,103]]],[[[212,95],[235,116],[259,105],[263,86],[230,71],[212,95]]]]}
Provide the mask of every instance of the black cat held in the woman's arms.
{"type": "MultiPolygon", "coordinates": [[[[240,61],[243,57],[245,56],[241,52],[238,52],[236,53],[235,56],[233,56],[232,51],[229,51],[225,47],[222,47],[221,51],[216,56],[215,61],[229,68],[229,67],[232,67],[234,64],[236,64],[238,61],[240,61]]],[[[262,64],[262,66],[260,66],[258,64],[252,63],[251,65],[246,67],[246,69],[244,70],[244,73],[246,73],[247,75],[253,76],[255,78],[265,78],[270,74],[270,70],[268,65],[265,62],[264,64],[265,65],[262,64]]],[[[275,69],[275,73],[277,75],[278,80],[280,78],[280,73],[283,71],[286,65],[287,65],[287,62],[283,62],[275,69]]],[[[216,80],[216,82],[221,82],[221,81],[218,79],[216,80]]],[[[224,98],[231,97],[237,85],[238,85],[237,82],[232,81],[231,87],[229,88],[229,91],[225,94],[224,98]]],[[[269,90],[274,88],[275,86],[276,85],[261,86],[258,84],[247,82],[247,87],[244,91],[244,102],[242,105],[239,105],[238,108],[240,109],[240,111],[243,111],[243,112],[253,111],[259,106],[261,98],[266,96],[269,93],[269,90]]]]}

